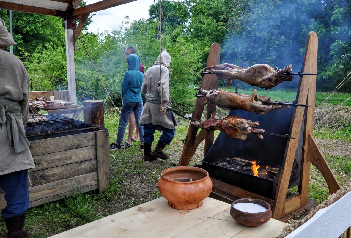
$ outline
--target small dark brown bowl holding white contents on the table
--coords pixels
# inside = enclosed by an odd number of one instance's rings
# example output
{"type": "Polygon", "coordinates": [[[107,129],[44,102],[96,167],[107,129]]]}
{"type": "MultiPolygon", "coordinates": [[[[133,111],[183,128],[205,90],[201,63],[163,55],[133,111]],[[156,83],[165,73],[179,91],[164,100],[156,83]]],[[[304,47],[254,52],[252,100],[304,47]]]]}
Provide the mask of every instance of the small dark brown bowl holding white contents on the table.
{"type": "MultiPolygon", "coordinates": [[[[243,209],[244,210],[244,209],[243,209]]],[[[272,217],[271,206],[263,200],[260,199],[251,199],[251,198],[242,198],[234,201],[230,208],[230,215],[236,222],[244,226],[259,226],[269,221],[272,217]],[[234,208],[235,204],[238,203],[255,203],[263,206],[266,211],[263,212],[245,212],[240,211],[234,208]]]]}

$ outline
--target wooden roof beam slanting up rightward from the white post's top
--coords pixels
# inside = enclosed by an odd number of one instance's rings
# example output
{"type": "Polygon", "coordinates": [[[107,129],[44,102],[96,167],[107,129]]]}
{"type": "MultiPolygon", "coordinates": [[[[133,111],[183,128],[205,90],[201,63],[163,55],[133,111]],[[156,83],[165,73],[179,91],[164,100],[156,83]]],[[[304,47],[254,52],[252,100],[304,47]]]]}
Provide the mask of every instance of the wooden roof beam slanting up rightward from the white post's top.
{"type": "Polygon", "coordinates": [[[85,14],[90,14],[92,12],[97,12],[110,7],[115,7],[115,6],[126,4],[128,2],[134,2],[134,1],[136,0],[102,0],[90,5],[86,5],[84,7],[73,9],[72,16],[81,16],[85,14]]]}

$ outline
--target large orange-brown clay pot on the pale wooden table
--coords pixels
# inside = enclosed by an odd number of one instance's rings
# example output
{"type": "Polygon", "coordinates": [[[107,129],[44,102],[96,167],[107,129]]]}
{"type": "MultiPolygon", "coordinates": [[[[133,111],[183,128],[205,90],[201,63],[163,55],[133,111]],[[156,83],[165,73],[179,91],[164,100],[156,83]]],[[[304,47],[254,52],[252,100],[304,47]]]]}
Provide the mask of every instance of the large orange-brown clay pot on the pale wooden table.
{"type": "Polygon", "coordinates": [[[210,195],[212,181],[208,172],[199,167],[167,168],[158,180],[158,189],[168,205],[178,210],[192,210],[210,195]]]}

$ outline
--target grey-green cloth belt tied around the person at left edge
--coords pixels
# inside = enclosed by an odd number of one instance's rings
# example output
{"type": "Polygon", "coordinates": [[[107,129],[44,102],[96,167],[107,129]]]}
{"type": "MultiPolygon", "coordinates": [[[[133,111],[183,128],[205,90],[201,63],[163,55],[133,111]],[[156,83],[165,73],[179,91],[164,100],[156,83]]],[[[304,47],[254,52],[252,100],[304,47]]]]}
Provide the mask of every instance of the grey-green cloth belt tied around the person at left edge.
{"type": "Polygon", "coordinates": [[[9,145],[14,145],[15,153],[26,150],[30,145],[24,127],[17,120],[21,118],[21,106],[18,101],[0,98],[0,124],[6,125],[9,145]]]}

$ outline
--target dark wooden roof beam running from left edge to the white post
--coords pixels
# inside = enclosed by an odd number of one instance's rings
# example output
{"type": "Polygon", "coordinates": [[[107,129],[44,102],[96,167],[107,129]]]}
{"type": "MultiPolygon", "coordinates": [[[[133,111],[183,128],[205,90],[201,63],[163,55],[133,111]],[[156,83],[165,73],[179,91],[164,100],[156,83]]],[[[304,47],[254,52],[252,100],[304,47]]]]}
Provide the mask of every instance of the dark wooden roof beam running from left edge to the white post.
{"type": "Polygon", "coordinates": [[[0,1],[0,8],[18,11],[18,12],[28,12],[28,13],[40,14],[40,15],[59,16],[62,18],[65,16],[64,11],[59,11],[59,10],[55,10],[55,9],[47,9],[47,8],[42,8],[42,7],[35,7],[35,6],[27,6],[27,5],[23,5],[23,4],[16,4],[16,3],[4,2],[4,1],[0,1]]]}

